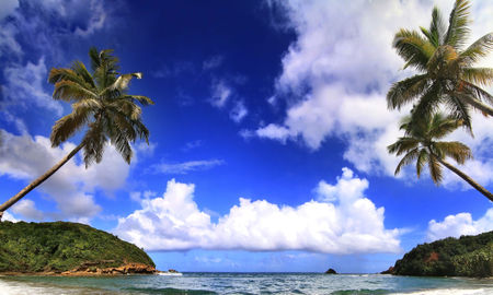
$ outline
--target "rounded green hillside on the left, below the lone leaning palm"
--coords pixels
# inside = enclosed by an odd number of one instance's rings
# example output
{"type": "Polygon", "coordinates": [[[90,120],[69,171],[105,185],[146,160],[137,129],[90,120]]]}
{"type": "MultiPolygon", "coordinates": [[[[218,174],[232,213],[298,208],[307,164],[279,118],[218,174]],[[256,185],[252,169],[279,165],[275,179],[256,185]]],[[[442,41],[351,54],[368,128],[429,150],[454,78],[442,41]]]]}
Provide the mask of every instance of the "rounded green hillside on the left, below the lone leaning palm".
{"type": "Polygon", "coordinates": [[[0,223],[0,272],[62,272],[83,263],[94,268],[154,267],[135,245],[84,224],[0,223]]]}

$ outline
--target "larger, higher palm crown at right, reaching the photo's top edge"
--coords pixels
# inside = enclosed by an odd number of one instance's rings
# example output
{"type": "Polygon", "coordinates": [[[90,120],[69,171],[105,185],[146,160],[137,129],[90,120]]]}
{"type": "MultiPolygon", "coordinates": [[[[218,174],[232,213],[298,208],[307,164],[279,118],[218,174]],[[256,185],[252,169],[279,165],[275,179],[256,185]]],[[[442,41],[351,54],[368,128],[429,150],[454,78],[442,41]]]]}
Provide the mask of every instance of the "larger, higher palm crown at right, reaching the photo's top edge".
{"type": "Polygon", "coordinates": [[[493,33],[489,33],[463,49],[469,30],[469,1],[456,0],[448,27],[435,7],[429,28],[420,32],[401,28],[393,47],[404,61],[420,73],[394,83],[387,94],[388,107],[400,109],[419,101],[413,118],[433,114],[445,104],[450,114],[463,121],[471,132],[470,108],[493,116],[493,96],[480,86],[493,82],[493,69],[473,64],[493,48],[493,33]],[[486,104],[485,104],[485,103],[486,104]]]}

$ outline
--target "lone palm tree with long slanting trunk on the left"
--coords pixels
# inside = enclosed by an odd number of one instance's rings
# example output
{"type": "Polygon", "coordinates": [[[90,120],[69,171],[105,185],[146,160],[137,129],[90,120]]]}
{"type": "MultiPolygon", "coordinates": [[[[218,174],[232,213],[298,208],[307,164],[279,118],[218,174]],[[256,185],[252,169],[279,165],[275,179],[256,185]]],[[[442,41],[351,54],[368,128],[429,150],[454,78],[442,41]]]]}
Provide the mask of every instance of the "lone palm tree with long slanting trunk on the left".
{"type": "Polygon", "coordinates": [[[59,146],[87,126],[81,143],[0,205],[0,221],[3,211],[43,184],[80,150],[83,149],[83,161],[88,167],[93,162],[101,162],[104,146],[110,141],[129,164],[133,156],[130,143],[137,138],[149,143],[149,131],[141,121],[142,110],[138,104],[147,106],[153,102],[149,97],[127,93],[130,80],[140,79],[141,73],[119,74],[118,59],[110,49],[98,51],[93,47],[89,50],[89,57],[92,73],[82,62],[76,61],[71,68],[53,68],[48,78],[48,82],[55,84],[53,98],[72,103],[72,113],[57,120],[51,129],[51,145],[59,146]]]}

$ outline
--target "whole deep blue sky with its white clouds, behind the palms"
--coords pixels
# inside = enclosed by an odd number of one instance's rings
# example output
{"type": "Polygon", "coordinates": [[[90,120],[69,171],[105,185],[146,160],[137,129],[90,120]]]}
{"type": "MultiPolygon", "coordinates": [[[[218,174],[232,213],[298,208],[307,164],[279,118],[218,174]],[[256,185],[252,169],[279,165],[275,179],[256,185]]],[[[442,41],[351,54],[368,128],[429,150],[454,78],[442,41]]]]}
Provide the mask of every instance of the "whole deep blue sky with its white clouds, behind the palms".
{"type": "MultiPolygon", "coordinates": [[[[8,219],[89,223],[144,247],[160,269],[377,272],[419,243],[493,229],[493,209],[446,173],[436,187],[386,146],[402,113],[390,84],[412,74],[391,48],[400,27],[451,1],[18,1],[0,4],[0,192],[7,200],[74,148],[51,149],[70,111],[51,98],[50,68],[112,48],[150,145],[127,165],[112,146],[79,157],[8,219]]],[[[474,1],[472,38],[493,31],[474,1]]],[[[471,40],[472,40],[471,38],[471,40]]],[[[493,56],[481,61],[493,67],[493,56]]],[[[491,92],[492,88],[489,88],[491,92]]],[[[458,131],[462,168],[493,189],[493,121],[458,131]]]]}

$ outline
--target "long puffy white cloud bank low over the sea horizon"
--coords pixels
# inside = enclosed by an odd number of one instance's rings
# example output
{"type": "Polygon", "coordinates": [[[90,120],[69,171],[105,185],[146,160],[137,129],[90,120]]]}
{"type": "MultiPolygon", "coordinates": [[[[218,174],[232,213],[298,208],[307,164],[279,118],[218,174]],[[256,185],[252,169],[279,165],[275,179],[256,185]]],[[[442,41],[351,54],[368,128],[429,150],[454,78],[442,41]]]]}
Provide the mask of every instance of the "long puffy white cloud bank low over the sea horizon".
{"type": "Polygon", "coordinates": [[[140,210],[119,219],[114,232],[146,250],[400,250],[399,231],[385,228],[383,208],[364,197],[366,179],[344,168],[337,184],[323,184],[316,189],[322,196],[319,201],[289,206],[240,198],[239,204],[213,223],[193,199],[195,186],[173,179],[162,197],[142,200],[140,210]],[[328,190],[328,186],[333,189],[328,190]]]}

